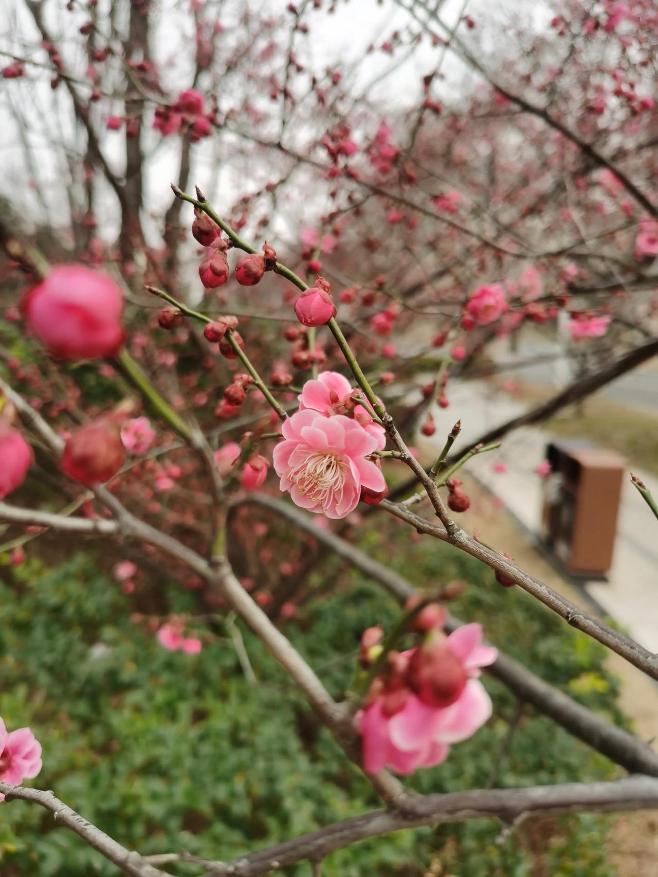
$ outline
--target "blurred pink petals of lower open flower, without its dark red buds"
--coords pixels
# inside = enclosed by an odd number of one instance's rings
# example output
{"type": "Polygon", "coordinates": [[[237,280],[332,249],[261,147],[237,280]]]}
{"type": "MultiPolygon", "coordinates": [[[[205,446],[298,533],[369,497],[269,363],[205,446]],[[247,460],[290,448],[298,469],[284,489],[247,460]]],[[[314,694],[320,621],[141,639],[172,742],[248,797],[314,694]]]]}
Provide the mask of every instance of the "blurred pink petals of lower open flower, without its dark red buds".
{"type": "Polygon", "coordinates": [[[476,677],[480,667],[496,660],[497,650],[483,645],[480,624],[458,628],[447,638],[447,644],[470,677],[456,702],[435,708],[410,691],[402,708],[392,715],[387,715],[382,697],[356,714],[363,738],[363,766],[368,774],[384,767],[397,774],[412,774],[418,767],[438,765],[447,758],[450,745],[472,737],[489,719],[491,699],[476,677]]]}

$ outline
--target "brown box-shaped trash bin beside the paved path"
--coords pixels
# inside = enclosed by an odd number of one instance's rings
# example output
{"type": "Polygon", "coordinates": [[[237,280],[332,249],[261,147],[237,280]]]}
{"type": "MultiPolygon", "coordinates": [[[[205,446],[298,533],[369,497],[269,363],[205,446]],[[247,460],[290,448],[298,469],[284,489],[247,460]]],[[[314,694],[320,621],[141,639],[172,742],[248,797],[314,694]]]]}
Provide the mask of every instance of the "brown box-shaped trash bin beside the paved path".
{"type": "Polygon", "coordinates": [[[552,470],[544,486],[543,538],[569,573],[605,578],[626,462],[590,442],[566,439],[548,445],[547,460],[552,470]]]}

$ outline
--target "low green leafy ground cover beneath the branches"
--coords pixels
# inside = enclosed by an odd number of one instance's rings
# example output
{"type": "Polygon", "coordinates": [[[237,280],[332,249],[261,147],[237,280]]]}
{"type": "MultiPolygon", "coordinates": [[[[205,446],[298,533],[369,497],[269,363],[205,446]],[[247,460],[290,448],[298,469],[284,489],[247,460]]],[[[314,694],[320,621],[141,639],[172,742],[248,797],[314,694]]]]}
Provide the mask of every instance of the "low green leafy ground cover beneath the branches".
{"type": "MultiPolygon", "coordinates": [[[[498,587],[476,561],[429,540],[410,545],[406,534],[396,538],[412,553],[418,584],[464,578],[469,588],[455,614],[483,620],[493,642],[620,721],[617,683],[604,669],[602,648],[516,588],[498,587]]],[[[392,548],[389,554],[396,553],[392,548]]],[[[185,849],[232,859],[377,806],[368,784],[248,631],[256,685],[242,673],[221,625],[198,656],[163,650],[132,623],[125,597],[89,555],[52,570],[28,560],[0,572],[0,715],[10,728],[31,725],[43,744],[44,768],[33,784],[53,788],[121,843],[145,853],[185,849]]],[[[360,576],[350,584],[311,603],[301,624],[286,628],[336,696],[349,684],[361,631],[390,624],[398,611],[360,576]]],[[[176,610],[189,600],[171,589],[176,610]]],[[[444,765],[414,776],[414,788],[454,791],[490,780],[515,703],[495,681],[486,684],[495,716],[475,738],[454,746],[444,765]]],[[[526,709],[495,783],[612,774],[603,757],[526,709]]],[[[605,825],[604,817],[591,816],[530,821],[501,844],[500,826],[488,821],[403,831],[334,853],[323,873],[420,877],[439,859],[459,877],[526,877],[540,850],[556,877],[609,877],[605,825]]],[[[11,877],[116,873],[45,811],[23,802],[2,806],[0,862],[0,873],[11,877]]],[[[173,866],[172,873],[198,870],[173,866]]],[[[308,865],[287,873],[301,877],[308,865]]]]}

